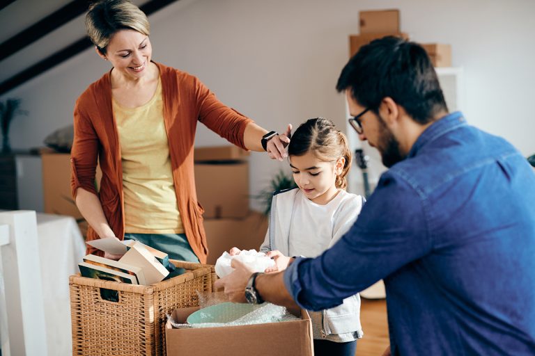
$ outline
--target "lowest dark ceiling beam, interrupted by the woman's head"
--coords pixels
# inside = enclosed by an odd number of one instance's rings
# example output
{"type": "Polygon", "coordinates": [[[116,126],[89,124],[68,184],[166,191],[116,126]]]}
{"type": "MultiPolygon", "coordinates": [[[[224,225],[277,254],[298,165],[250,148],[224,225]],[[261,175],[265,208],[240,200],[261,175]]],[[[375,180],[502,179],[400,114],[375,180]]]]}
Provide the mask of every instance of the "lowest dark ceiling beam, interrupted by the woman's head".
{"type": "MultiPolygon", "coordinates": [[[[148,16],[175,1],[178,0],[150,0],[139,8],[141,8],[141,10],[143,10],[143,12],[148,16]]],[[[41,60],[28,69],[23,70],[22,72],[15,74],[11,78],[0,83],[0,95],[17,86],[20,86],[22,83],[29,81],[43,72],[52,69],[56,65],[63,63],[63,61],[68,60],[72,56],[79,54],[91,46],[93,46],[91,41],[87,37],[84,37],[70,44],[68,47],[60,49],[56,53],[52,54],[52,56],[41,60]]]]}

